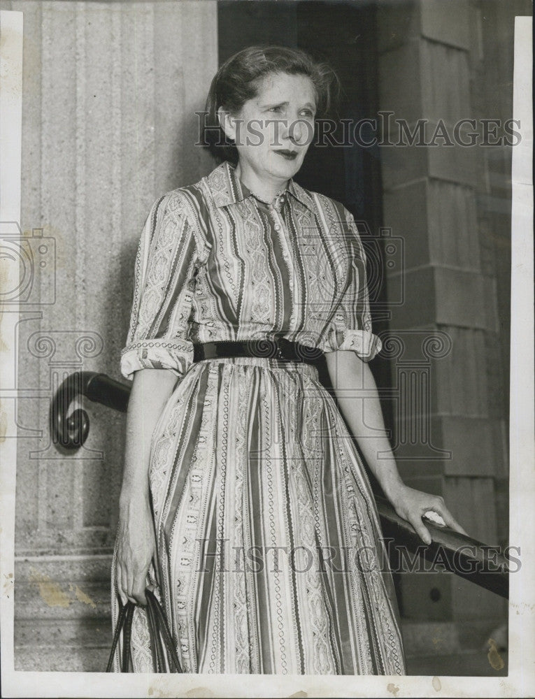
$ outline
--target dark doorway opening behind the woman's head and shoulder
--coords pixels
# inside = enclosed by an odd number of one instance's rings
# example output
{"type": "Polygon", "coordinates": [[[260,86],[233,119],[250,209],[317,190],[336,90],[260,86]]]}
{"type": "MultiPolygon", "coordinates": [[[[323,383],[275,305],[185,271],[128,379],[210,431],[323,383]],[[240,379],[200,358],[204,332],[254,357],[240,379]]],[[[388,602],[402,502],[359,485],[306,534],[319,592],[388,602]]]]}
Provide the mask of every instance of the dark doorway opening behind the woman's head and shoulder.
{"type": "MultiPolygon", "coordinates": [[[[355,0],[220,0],[217,21],[220,64],[237,51],[255,44],[301,48],[316,59],[327,61],[338,73],[343,87],[336,115],[338,122],[345,120],[353,125],[364,119],[377,120],[376,3],[365,0],[358,3],[355,0]]],[[[371,136],[371,131],[366,133],[362,129],[363,140],[369,141],[371,136]]],[[[378,146],[359,145],[355,129],[351,127],[338,129],[334,142],[326,139],[324,143],[311,145],[295,179],[307,189],[343,203],[359,223],[369,265],[372,263],[376,267],[375,278],[379,272],[383,280],[375,285],[371,294],[374,331],[386,330],[387,314],[374,312],[373,307],[376,302],[385,308],[384,240],[378,234],[382,224],[378,146]]],[[[378,386],[389,386],[388,361],[375,359],[372,364],[378,386]]],[[[322,383],[331,389],[324,366],[320,364],[318,368],[322,383]]],[[[387,426],[392,426],[390,404],[385,403],[383,411],[387,426]]]]}

